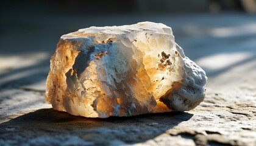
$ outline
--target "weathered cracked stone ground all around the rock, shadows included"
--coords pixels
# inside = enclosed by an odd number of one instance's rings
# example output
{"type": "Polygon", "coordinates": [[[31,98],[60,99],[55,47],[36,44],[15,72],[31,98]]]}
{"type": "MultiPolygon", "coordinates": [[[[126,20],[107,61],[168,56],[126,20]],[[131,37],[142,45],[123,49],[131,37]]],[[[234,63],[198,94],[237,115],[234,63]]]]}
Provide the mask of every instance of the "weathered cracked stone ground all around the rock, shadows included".
{"type": "MultiPolygon", "coordinates": [[[[55,18],[21,21],[23,29],[1,34],[0,145],[256,145],[255,15],[55,18]],[[185,54],[207,72],[207,97],[200,106],[184,113],[91,119],[45,102],[49,57],[60,35],[145,20],[171,26],[185,54]]],[[[17,19],[6,18],[2,26],[17,19]]]]}

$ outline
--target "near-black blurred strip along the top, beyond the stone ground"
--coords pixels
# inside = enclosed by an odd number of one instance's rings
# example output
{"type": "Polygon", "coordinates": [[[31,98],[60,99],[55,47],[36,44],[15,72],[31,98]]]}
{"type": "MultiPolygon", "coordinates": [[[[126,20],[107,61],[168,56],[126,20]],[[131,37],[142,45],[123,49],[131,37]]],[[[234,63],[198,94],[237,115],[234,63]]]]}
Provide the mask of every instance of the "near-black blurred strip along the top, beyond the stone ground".
{"type": "MultiPolygon", "coordinates": [[[[250,0],[249,0],[250,1],[250,0]]],[[[1,1],[2,12],[11,15],[27,14],[85,14],[85,13],[188,13],[212,12],[213,8],[219,12],[229,10],[246,11],[242,1],[233,0],[128,0],[128,1],[83,1],[83,0],[45,0],[45,1],[1,1]]]]}

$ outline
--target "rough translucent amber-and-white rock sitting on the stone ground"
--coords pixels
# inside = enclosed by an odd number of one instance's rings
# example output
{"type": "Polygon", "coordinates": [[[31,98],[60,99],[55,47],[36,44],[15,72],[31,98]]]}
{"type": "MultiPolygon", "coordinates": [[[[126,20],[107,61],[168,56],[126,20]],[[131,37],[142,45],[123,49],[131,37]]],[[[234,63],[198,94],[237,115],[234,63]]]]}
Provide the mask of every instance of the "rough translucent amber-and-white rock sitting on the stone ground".
{"type": "Polygon", "coordinates": [[[206,80],[164,24],[89,27],[60,38],[46,100],[85,117],[187,111],[204,100],[206,80]]]}

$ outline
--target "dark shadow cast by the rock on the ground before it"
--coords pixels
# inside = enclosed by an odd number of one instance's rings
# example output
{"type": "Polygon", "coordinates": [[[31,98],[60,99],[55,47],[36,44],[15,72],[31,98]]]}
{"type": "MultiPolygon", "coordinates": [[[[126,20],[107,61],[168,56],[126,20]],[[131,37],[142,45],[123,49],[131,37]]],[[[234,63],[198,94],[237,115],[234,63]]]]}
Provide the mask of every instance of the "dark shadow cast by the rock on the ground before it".
{"type": "Polygon", "coordinates": [[[93,119],[52,108],[0,124],[0,145],[121,145],[148,141],[189,120],[193,114],[171,112],[93,119]],[[77,143],[79,142],[79,143],[77,143]]]}

